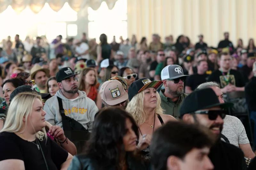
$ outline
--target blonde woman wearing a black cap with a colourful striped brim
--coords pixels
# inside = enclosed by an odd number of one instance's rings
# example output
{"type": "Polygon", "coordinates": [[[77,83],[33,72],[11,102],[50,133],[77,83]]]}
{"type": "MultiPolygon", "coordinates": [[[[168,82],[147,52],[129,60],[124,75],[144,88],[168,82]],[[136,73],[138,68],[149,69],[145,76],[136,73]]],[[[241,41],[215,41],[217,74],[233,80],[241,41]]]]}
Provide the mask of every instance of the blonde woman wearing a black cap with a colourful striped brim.
{"type": "MultiPolygon", "coordinates": [[[[157,92],[163,85],[162,81],[151,81],[140,78],[128,88],[130,102],[126,107],[134,120],[138,123],[140,139],[150,144],[153,132],[169,121],[176,121],[170,115],[163,115],[161,99],[157,92]]],[[[150,159],[149,148],[142,151],[145,159],[150,159]]]]}

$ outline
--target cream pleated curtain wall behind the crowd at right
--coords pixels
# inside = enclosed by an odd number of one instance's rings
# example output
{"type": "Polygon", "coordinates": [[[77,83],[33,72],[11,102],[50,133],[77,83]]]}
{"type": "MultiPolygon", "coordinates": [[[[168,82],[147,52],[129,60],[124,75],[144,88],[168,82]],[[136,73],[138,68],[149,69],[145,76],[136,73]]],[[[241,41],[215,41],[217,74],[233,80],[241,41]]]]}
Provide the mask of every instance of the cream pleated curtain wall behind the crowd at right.
{"type": "Polygon", "coordinates": [[[229,39],[237,44],[242,38],[244,45],[250,38],[256,39],[255,0],[128,0],[128,36],[145,36],[158,33],[161,40],[173,35],[184,34],[195,44],[198,35],[204,34],[204,41],[217,46],[229,32],[229,39]]]}

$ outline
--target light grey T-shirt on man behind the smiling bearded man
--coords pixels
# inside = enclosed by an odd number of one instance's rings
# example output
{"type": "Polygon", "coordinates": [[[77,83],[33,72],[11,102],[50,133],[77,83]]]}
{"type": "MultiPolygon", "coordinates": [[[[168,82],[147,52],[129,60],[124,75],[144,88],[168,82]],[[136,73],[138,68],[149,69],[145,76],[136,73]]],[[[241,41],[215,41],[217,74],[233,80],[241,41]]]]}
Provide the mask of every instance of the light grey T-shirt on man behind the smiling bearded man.
{"type": "MultiPolygon", "coordinates": [[[[237,147],[239,147],[239,144],[250,143],[243,123],[235,116],[226,115],[221,133],[228,138],[230,144],[237,147]]],[[[221,138],[221,140],[223,139],[221,138]]]]}

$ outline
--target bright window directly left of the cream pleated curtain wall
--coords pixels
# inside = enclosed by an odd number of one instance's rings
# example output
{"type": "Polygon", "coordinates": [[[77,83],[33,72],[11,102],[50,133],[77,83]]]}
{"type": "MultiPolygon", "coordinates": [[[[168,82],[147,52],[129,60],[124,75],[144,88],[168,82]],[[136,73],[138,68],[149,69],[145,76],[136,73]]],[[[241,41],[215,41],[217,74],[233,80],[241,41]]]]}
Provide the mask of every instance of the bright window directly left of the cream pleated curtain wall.
{"type": "Polygon", "coordinates": [[[127,38],[127,0],[118,0],[112,10],[108,9],[108,5],[102,2],[100,8],[94,11],[88,7],[88,37],[96,38],[99,42],[100,34],[105,33],[108,42],[112,41],[115,35],[116,40],[120,36],[127,38]]]}

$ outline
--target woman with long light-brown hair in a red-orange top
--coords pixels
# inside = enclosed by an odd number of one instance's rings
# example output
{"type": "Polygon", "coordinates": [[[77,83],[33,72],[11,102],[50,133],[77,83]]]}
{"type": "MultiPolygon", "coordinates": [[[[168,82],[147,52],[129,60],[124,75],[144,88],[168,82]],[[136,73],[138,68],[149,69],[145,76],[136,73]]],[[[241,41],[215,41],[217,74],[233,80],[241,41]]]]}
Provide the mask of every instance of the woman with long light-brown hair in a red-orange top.
{"type": "Polygon", "coordinates": [[[84,69],[78,78],[78,89],[84,91],[90,99],[92,99],[97,107],[101,108],[101,98],[98,89],[95,87],[97,84],[97,77],[95,69],[86,68],[84,69]]]}

